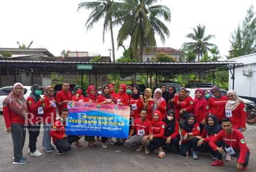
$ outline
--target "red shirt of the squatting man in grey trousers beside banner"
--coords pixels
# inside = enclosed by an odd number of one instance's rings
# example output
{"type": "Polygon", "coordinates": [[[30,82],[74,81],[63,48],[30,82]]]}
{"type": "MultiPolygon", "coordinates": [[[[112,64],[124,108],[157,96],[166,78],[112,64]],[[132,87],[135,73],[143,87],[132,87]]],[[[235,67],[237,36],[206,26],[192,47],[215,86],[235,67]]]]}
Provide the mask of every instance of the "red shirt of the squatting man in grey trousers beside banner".
{"type": "Polygon", "coordinates": [[[131,128],[135,130],[137,136],[147,136],[153,133],[152,124],[147,119],[145,121],[141,121],[141,118],[135,119],[131,128]]]}

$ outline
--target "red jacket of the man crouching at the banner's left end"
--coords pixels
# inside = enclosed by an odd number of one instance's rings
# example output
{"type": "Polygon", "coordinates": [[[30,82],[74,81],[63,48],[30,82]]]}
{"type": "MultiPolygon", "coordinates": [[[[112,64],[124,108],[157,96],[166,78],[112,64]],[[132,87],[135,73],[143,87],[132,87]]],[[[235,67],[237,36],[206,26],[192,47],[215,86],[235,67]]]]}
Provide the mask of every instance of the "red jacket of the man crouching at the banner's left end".
{"type": "Polygon", "coordinates": [[[50,136],[53,137],[53,142],[55,143],[56,140],[62,140],[65,134],[66,128],[65,124],[61,120],[57,120],[53,123],[50,129],[50,136]]]}

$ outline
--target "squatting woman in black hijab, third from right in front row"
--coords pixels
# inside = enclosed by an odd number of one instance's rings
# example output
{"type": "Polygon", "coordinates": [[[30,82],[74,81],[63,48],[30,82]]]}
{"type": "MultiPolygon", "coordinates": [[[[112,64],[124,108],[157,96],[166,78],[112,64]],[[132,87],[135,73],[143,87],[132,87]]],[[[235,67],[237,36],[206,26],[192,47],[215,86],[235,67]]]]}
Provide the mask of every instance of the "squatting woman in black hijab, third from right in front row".
{"type": "Polygon", "coordinates": [[[187,115],[185,121],[181,124],[181,154],[185,157],[189,154],[191,148],[193,149],[192,155],[194,159],[198,159],[197,156],[197,142],[200,134],[200,127],[198,122],[195,121],[193,114],[187,115]]]}

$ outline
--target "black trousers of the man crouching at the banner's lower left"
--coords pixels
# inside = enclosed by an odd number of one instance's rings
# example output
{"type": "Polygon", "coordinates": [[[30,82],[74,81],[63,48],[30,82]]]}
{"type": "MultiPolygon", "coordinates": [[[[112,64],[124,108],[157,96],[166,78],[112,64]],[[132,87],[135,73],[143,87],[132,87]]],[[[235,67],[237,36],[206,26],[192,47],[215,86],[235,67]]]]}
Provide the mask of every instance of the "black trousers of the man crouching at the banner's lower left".
{"type": "Polygon", "coordinates": [[[71,146],[73,142],[78,141],[80,138],[78,136],[67,136],[66,138],[63,138],[62,140],[56,140],[54,145],[56,146],[57,150],[61,153],[63,151],[68,151],[71,149],[71,146]]]}

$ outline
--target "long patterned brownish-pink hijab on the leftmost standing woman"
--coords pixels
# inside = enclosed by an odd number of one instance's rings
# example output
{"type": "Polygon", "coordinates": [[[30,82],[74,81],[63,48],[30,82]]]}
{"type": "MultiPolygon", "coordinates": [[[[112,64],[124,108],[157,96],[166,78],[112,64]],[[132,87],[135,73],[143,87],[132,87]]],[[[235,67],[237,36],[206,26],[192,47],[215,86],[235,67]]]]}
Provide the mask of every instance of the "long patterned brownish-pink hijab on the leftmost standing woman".
{"type": "Polygon", "coordinates": [[[3,105],[8,106],[12,112],[25,118],[25,113],[28,112],[26,99],[24,97],[24,91],[22,91],[21,95],[17,95],[17,93],[15,92],[15,88],[18,85],[23,88],[23,85],[21,83],[15,83],[13,85],[13,90],[9,93],[5,100],[3,100],[3,105]]]}

